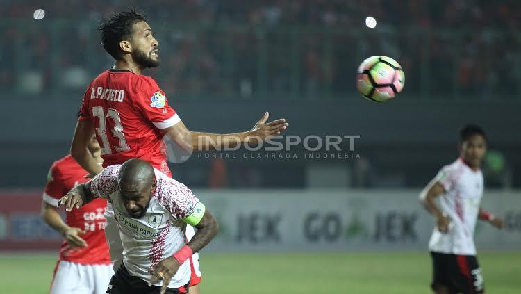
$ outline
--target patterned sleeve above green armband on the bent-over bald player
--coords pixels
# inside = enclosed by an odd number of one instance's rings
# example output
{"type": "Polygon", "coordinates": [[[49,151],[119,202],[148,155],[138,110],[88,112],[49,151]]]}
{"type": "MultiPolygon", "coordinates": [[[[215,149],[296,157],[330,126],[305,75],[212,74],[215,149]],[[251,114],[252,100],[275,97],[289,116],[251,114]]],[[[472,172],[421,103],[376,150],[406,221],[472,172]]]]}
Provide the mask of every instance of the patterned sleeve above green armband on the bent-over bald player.
{"type": "Polygon", "coordinates": [[[201,208],[199,199],[192,194],[192,190],[182,183],[172,179],[163,180],[158,188],[160,204],[162,204],[175,219],[185,219],[192,214],[201,212],[197,210],[198,207],[201,208]]]}

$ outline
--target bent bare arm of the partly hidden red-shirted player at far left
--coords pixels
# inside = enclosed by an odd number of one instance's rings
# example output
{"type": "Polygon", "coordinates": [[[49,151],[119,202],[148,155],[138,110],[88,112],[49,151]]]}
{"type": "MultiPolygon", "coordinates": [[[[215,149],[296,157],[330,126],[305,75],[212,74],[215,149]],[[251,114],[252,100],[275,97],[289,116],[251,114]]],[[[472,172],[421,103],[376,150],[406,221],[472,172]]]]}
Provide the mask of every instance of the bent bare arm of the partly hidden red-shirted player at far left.
{"type": "Polygon", "coordinates": [[[79,236],[81,234],[85,234],[85,231],[75,227],[69,227],[62,220],[58,211],[56,211],[56,206],[42,201],[40,215],[42,216],[42,220],[46,224],[49,224],[49,227],[60,233],[63,238],[67,240],[69,247],[87,247],[87,242],[85,242],[85,240],[79,236]]]}

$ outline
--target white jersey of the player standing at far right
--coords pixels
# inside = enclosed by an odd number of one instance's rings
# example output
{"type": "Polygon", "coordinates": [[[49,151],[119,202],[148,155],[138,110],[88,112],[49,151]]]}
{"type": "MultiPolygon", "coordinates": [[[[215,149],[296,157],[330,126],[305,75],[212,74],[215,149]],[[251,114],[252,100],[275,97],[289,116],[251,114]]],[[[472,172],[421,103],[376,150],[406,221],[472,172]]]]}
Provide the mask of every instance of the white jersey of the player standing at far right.
{"type": "Polygon", "coordinates": [[[440,195],[440,209],[450,219],[446,234],[436,227],[429,241],[429,250],[447,254],[475,255],[474,228],[476,227],[481,197],[483,174],[472,170],[461,158],[444,166],[433,181],[445,188],[440,195]]]}

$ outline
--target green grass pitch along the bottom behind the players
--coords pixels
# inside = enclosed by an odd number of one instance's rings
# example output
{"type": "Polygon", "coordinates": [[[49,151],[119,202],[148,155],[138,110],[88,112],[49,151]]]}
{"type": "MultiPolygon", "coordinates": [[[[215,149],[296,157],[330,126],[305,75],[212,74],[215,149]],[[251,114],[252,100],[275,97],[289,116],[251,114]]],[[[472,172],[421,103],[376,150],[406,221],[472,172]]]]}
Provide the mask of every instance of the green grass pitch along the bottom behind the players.
{"type": "MultiPolygon", "coordinates": [[[[481,252],[487,293],[521,293],[521,252],[481,252]]],[[[1,293],[48,293],[56,254],[0,254],[1,293]]],[[[431,293],[427,252],[201,254],[201,293],[431,293]]]]}

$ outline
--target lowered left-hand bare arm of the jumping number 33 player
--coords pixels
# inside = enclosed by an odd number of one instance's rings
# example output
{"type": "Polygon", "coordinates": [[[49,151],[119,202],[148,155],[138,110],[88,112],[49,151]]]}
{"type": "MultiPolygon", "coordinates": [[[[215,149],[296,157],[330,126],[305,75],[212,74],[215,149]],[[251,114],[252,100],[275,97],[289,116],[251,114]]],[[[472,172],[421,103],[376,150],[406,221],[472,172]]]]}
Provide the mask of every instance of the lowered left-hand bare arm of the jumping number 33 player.
{"type": "Polygon", "coordinates": [[[90,139],[94,135],[94,126],[90,120],[78,121],[71,143],[71,156],[90,174],[99,174],[103,168],[88,149],[90,139]]]}

